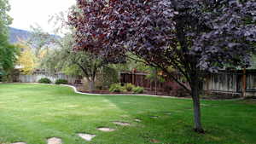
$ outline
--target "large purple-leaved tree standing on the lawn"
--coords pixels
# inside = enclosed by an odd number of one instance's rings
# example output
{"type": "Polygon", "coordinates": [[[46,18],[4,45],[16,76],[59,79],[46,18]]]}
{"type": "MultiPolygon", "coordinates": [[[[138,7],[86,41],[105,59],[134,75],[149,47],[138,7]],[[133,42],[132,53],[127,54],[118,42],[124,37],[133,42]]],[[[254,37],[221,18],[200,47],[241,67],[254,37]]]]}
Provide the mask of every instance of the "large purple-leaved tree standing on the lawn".
{"type": "Polygon", "coordinates": [[[69,15],[75,49],[108,56],[130,51],[159,67],[192,95],[200,133],[203,72],[226,64],[249,66],[256,49],[255,0],[77,0],[77,5],[80,10],[69,15]]]}

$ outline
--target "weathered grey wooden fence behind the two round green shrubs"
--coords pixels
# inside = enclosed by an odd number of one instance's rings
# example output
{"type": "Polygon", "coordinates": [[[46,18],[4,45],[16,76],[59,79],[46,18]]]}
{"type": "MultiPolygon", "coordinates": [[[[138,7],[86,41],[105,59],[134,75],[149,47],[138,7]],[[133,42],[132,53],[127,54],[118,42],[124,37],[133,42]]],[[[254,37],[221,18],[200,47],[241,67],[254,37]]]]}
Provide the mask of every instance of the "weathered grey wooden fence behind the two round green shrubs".
{"type": "Polygon", "coordinates": [[[16,79],[20,83],[37,83],[41,78],[49,78],[53,83],[56,79],[66,79],[69,84],[74,84],[79,78],[67,76],[63,73],[49,74],[48,72],[35,72],[32,75],[22,75],[20,74],[16,79]]]}

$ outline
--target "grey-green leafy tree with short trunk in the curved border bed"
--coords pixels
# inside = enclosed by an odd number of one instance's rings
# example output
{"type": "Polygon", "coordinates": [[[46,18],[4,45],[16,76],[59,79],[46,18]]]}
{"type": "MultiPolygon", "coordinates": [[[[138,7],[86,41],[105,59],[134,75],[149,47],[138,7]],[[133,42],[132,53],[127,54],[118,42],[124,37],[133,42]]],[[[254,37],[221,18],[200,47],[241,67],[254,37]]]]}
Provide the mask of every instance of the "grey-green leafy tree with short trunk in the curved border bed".
{"type": "Polygon", "coordinates": [[[52,50],[44,58],[43,66],[54,69],[54,71],[63,71],[67,68],[70,70],[71,68],[74,72],[79,72],[86,78],[89,90],[93,91],[95,89],[96,74],[108,62],[103,60],[101,55],[73,50],[73,37],[70,33],[67,33],[65,37],[55,40],[55,44],[59,46],[59,49],[52,50]]]}

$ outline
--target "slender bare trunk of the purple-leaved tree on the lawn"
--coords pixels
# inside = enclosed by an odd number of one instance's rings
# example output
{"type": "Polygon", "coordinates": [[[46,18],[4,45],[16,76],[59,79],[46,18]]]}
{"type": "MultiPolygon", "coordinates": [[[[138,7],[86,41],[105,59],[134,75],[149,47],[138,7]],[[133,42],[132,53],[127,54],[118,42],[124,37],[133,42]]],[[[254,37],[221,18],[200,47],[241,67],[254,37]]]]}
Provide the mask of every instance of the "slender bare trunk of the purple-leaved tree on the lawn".
{"type": "Polygon", "coordinates": [[[195,122],[195,132],[204,133],[201,125],[201,106],[199,97],[199,83],[191,85],[192,99],[194,104],[194,122],[195,122]]]}

